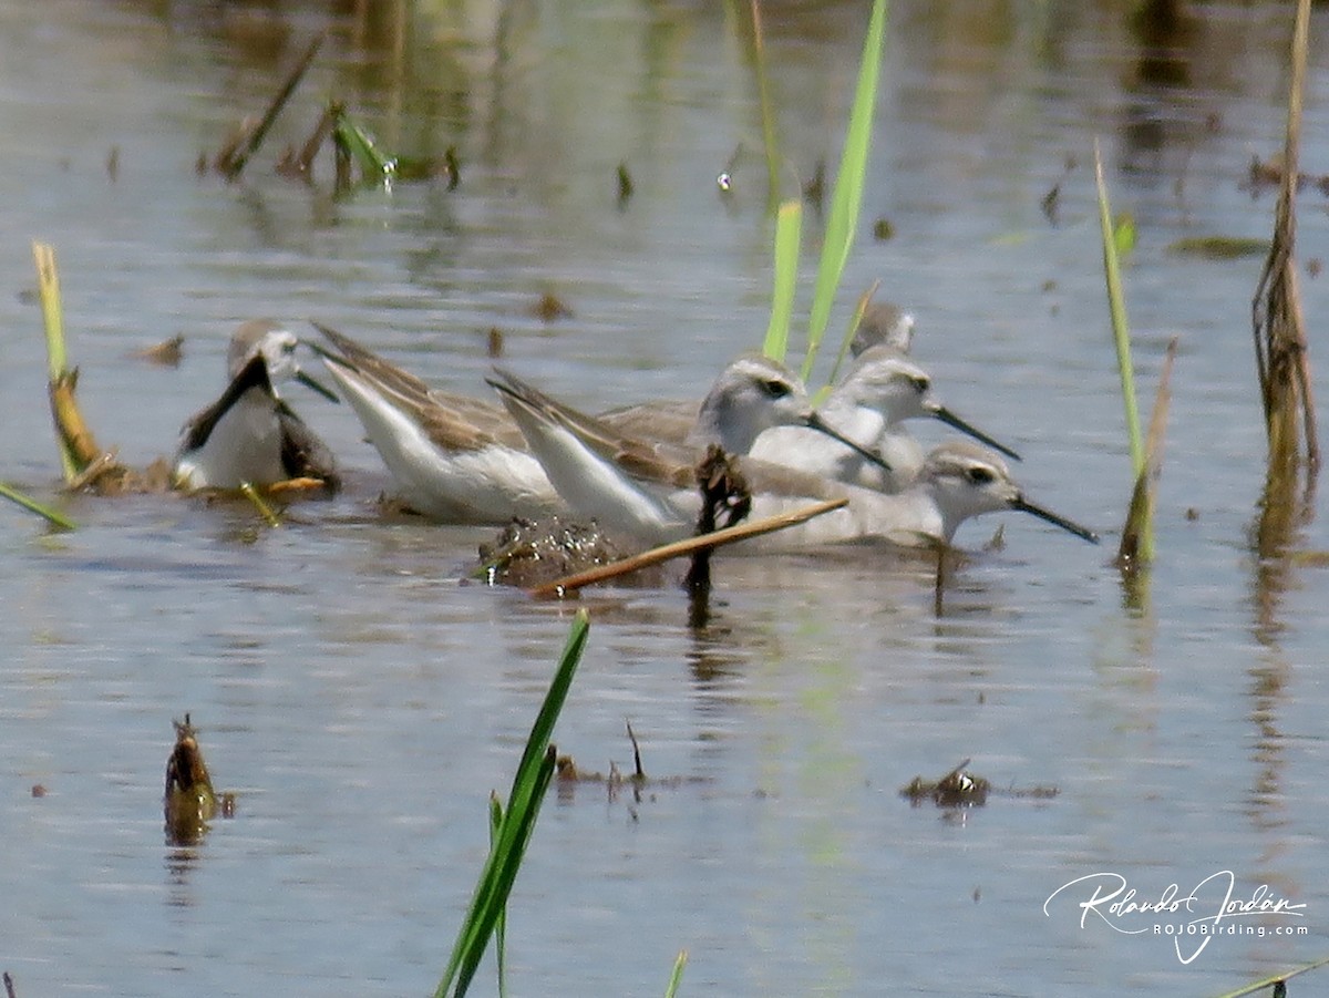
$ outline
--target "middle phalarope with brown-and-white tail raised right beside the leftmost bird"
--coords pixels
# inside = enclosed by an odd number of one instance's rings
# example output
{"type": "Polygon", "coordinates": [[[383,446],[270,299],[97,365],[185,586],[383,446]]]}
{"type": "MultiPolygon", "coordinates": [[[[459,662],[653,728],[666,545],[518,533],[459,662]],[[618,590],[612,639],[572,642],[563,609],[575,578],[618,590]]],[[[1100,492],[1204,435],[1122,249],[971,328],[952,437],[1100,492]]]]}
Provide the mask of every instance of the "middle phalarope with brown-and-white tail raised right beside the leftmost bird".
{"type": "MultiPolygon", "coordinates": [[[[314,324],[338,352],[315,349],[412,509],[437,520],[485,524],[566,509],[566,497],[549,482],[504,408],[433,391],[350,336],[314,324]]],[[[657,425],[664,431],[661,443],[686,445],[687,453],[706,444],[747,453],[764,429],[788,424],[829,436],[865,462],[880,460],[825,425],[797,376],[760,356],[742,356],[720,372],[686,417],[687,432],[678,427],[682,412],[657,409],[657,425]]],[[[642,407],[634,407],[606,421],[641,417],[642,407]]]]}

